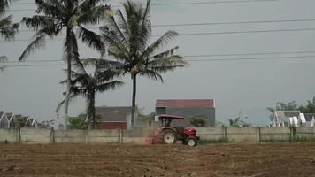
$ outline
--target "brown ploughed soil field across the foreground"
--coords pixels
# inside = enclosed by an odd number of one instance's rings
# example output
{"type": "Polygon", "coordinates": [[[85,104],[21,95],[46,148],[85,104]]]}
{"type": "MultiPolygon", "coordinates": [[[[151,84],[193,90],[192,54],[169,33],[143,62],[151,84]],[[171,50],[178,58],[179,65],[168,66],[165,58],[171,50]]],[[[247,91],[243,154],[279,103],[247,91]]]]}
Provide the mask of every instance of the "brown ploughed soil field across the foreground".
{"type": "Polygon", "coordinates": [[[315,177],[315,143],[0,144],[0,176],[315,177]]]}

